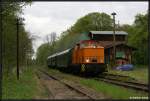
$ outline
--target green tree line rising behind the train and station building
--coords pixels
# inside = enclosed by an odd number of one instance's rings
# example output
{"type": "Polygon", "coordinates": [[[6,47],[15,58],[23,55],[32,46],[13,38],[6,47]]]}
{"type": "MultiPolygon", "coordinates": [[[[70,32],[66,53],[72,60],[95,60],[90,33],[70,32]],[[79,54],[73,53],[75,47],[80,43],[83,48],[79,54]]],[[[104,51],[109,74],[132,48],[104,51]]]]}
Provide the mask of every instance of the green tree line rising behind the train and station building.
{"type": "MultiPolygon", "coordinates": [[[[127,44],[137,48],[133,53],[134,64],[148,64],[148,14],[137,14],[132,25],[117,25],[116,30],[123,30],[128,33],[127,44]]],[[[95,31],[113,30],[112,18],[106,13],[92,12],[81,18],[69,29],[61,33],[61,36],[51,43],[42,44],[37,50],[37,64],[46,65],[46,59],[49,55],[63,51],[75,44],[75,37],[79,34],[95,31]],[[53,43],[53,44],[52,44],[53,43]]]]}

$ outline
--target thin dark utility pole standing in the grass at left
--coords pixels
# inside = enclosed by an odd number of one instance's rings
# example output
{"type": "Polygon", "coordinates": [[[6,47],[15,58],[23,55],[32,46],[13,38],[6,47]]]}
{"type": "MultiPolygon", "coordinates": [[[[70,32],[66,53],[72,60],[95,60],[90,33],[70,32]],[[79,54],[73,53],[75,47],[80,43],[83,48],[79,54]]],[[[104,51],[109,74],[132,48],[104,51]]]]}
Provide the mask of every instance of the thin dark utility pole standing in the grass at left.
{"type": "Polygon", "coordinates": [[[19,21],[22,20],[21,18],[17,18],[17,80],[19,80],[19,25],[22,25],[19,23],[19,21]]]}

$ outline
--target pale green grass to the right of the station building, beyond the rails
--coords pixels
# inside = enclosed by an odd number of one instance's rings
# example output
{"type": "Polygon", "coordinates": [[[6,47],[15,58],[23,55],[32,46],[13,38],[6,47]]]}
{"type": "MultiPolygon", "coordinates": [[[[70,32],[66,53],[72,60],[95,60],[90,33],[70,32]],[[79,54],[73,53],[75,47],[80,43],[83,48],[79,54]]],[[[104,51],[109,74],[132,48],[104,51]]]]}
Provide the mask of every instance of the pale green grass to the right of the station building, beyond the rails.
{"type": "Polygon", "coordinates": [[[140,82],[148,83],[148,66],[135,66],[133,71],[109,70],[109,72],[113,74],[130,76],[140,82]]]}

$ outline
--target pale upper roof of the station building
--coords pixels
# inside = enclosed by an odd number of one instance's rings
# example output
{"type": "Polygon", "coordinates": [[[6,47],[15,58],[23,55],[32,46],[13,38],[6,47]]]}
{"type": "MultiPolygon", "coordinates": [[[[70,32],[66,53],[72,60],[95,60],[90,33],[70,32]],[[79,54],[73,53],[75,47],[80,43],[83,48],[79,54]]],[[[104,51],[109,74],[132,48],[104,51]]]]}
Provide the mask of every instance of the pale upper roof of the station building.
{"type": "MultiPolygon", "coordinates": [[[[113,31],[90,31],[91,34],[112,35],[113,31]]],[[[128,35],[125,31],[115,31],[116,35],[128,35]]]]}

